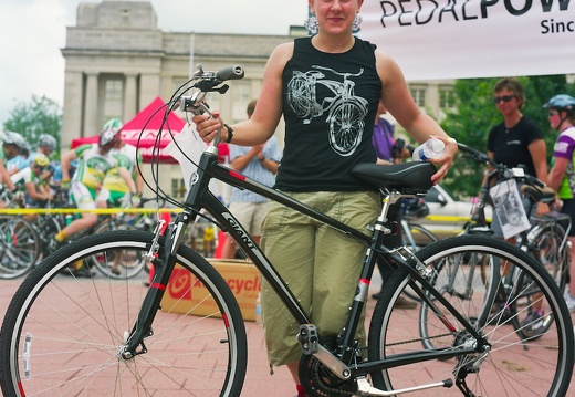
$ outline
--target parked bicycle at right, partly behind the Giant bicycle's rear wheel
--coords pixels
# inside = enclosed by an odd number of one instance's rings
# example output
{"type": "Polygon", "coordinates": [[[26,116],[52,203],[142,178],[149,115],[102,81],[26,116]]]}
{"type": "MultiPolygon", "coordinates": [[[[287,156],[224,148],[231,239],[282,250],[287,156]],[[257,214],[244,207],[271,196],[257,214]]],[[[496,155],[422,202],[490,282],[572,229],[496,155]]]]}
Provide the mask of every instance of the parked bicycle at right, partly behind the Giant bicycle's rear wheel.
{"type": "MultiPolygon", "coordinates": [[[[492,186],[494,180],[501,182],[515,179],[522,182],[522,194],[529,198],[531,208],[541,200],[547,203],[554,200],[554,191],[545,188],[544,184],[535,177],[525,175],[521,169],[509,169],[504,165],[493,161],[483,153],[463,144],[459,144],[459,148],[469,158],[483,165],[490,165],[492,168],[481,189],[481,196],[471,221],[466,226],[463,233],[470,236],[491,233],[485,221],[484,208],[489,202],[492,202],[489,187],[492,186]]],[[[527,208],[527,212],[531,208],[527,208]]],[[[571,264],[571,251],[567,242],[568,231],[572,227],[571,218],[561,213],[548,213],[532,217],[531,223],[531,229],[522,231],[516,237],[518,247],[536,259],[541,269],[550,273],[560,291],[563,292],[567,283],[571,264]]],[[[553,315],[539,307],[536,291],[525,291],[525,299],[533,302],[531,310],[525,311],[520,307],[520,302],[509,302],[510,294],[513,294],[512,291],[518,285],[515,268],[498,263],[495,267],[500,268],[501,273],[495,278],[490,278],[488,269],[493,264],[488,263],[488,260],[489,258],[478,258],[475,259],[477,265],[473,267],[468,265],[467,262],[460,263],[458,261],[441,263],[439,268],[433,270],[436,286],[448,299],[457,295],[458,300],[464,301],[472,300],[473,290],[478,288],[487,289],[489,283],[494,283],[496,286],[495,305],[489,321],[513,325],[523,341],[540,337],[551,326],[554,320],[553,315]]],[[[435,326],[433,320],[429,306],[421,305],[421,336],[429,335],[429,328],[435,326]]],[[[441,341],[436,339],[425,343],[428,347],[437,344],[441,344],[441,341]]]]}

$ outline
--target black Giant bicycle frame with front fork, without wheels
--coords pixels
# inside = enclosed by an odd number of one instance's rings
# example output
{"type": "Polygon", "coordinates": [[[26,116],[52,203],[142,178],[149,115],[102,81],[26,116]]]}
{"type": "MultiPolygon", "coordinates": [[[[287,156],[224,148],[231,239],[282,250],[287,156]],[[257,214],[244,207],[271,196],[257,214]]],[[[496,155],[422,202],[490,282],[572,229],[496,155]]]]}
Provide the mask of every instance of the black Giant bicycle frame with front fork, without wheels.
{"type": "MultiPolygon", "coordinates": [[[[125,358],[129,358],[132,355],[146,352],[143,339],[151,332],[151,323],[157,312],[156,309],[161,301],[165,286],[169,281],[169,276],[175,265],[176,259],[174,253],[177,252],[179,245],[184,241],[184,230],[186,226],[190,222],[194,222],[202,209],[206,209],[213,217],[219,227],[223,231],[228,232],[245,251],[255,268],[261,272],[262,276],[270,283],[271,288],[273,288],[285,306],[292,313],[293,317],[300,324],[302,324],[302,326],[311,324],[311,318],[302,309],[281,276],[278,274],[273,264],[265,258],[265,254],[253,242],[250,234],[238,222],[234,216],[229,212],[228,208],[226,208],[223,203],[221,203],[220,200],[211,191],[209,191],[208,186],[211,178],[216,178],[240,189],[254,191],[271,200],[278,201],[290,208],[301,211],[302,213],[322,221],[325,224],[341,231],[342,233],[356,239],[366,247],[366,258],[358,280],[357,293],[351,304],[347,324],[345,325],[345,331],[341,341],[344,346],[352,348],[344,349],[343,356],[339,358],[323,347],[318,341],[314,341],[315,343],[313,343],[313,346],[311,346],[307,352],[309,354],[314,354],[318,361],[332,369],[334,374],[336,374],[342,379],[347,379],[352,375],[366,375],[374,370],[400,366],[408,363],[428,361],[432,358],[448,358],[457,355],[469,354],[477,352],[484,346],[484,343],[482,342],[483,338],[479,335],[478,331],[440,294],[440,292],[435,290],[428,280],[426,280],[425,265],[415,258],[415,254],[410,253],[408,250],[405,250],[407,251],[404,251],[404,253],[407,255],[406,258],[401,254],[401,251],[404,250],[402,248],[388,250],[383,244],[384,236],[390,232],[390,230],[387,228],[386,215],[389,206],[401,197],[399,192],[391,192],[384,199],[381,215],[377,219],[374,233],[373,236],[366,236],[358,230],[355,230],[339,221],[315,211],[314,209],[301,203],[295,199],[292,199],[291,197],[278,190],[273,190],[239,174],[231,168],[218,164],[217,148],[215,146],[209,146],[200,158],[198,173],[195,176],[190,191],[185,201],[185,210],[177,216],[175,222],[171,223],[165,232],[166,242],[163,247],[165,247],[166,250],[160,253],[161,259],[159,261],[155,261],[156,270],[154,280],[150,283],[150,289],[144,300],[143,309],[138,315],[136,326],[133,330],[130,337],[128,338],[127,345],[125,346],[123,353],[125,358]],[[445,306],[447,306],[449,311],[458,318],[458,321],[460,321],[462,324],[466,324],[466,328],[469,331],[469,333],[478,339],[478,347],[462,348],[457,353],[430,351],[421,353],[420,355],[398,355],[397,357],[387,357],[381,361],[354,363],[353,367],[348,367],[345,363],[352,363],[354,356],[357,353],[355,349],[354,337],[359,325],[363,307],[367,301],[369,282],[376,265],[376,261],[378,259],[384,260],[388,265],[394,268],[401,267],[407,269],[415,279],[412,283],[418,282],[422,285],[422,288],[414,285],[414,289],[418,295],[420,295],[421,300],[427,302],[433,312],[442,318],[445,316],[437,309],[437,305],[431,301],[430,296],[433,296],[445,306]],[[140,351],[137,351],[138,345],[142,346],[140,351]]],[[[157,241],[158,236],[156,237],[155,243],[150,249],[150,257],[153,257],[154,253],[158,253],[159,245],[157,241]]],[[[447,321],[446,326],[448,328],[450,326],[447,321]]]]}

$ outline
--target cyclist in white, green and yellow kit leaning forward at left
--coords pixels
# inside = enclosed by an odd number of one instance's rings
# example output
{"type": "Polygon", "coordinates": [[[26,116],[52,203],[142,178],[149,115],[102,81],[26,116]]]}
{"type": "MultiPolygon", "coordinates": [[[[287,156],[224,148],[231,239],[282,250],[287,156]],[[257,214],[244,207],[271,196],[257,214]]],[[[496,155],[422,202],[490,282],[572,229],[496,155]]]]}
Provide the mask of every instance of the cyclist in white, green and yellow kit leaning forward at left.
{"type": "MultiPolygon", "coordinates": [[[[106,175],[114,168],[129,187],[132,194],[136,194],[136,185],[129,171],[118,165],[117,158],[112,150],[117,147],[119,132],[108,127],[107,123],[100,133],[97,144],[81,145],[62,156],[62,188],[70,187],[70,199],[82,210],[96,209],[96,201],[102,182],[106,175]],[[77,169],[72,181],[70,180],[71,163],[77,159],[77,169]]],[[[85,230],[97,222],[97,213],[82,212],[82,217],[73,220],[62,229],[50,244],[50,250],[55,250],[73,234],[85,230]]],[[[87,269],[75,269],[72,271],[77,276],[90,276],[87,269]]]]}

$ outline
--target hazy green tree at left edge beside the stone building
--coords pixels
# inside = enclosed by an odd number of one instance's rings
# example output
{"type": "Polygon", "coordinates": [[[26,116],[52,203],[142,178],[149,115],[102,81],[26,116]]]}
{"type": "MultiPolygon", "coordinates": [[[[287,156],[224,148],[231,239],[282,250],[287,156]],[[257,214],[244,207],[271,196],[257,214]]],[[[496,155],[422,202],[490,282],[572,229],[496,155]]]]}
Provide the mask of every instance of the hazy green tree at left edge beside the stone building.
{"type": "Polygon", "coordinates": [[[36,147],[40,135],[52,135],[58,140],[58,148],[52,156],[60,154],[62,109],[53,100],[33,95],[31,102],[17,104],[10,112],[10,118],[4,122],[3,128],[20,133],[32,148],[36,147]]]}

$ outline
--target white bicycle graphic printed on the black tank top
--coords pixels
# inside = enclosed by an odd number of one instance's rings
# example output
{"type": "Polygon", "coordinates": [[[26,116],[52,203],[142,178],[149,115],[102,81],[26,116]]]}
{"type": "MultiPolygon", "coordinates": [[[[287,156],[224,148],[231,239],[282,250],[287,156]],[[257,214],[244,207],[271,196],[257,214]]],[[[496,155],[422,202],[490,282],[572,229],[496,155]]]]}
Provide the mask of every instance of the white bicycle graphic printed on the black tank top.
{"type": "Polygon", "coordinates": [[[351,156],[362,143],[362,133],[365,126],[368,103],[365,98],[355,96],[355,83],[348,77],[356,77],[364,73],[339,73],[331,67],[312,66],[314,69],[330,71],[344,77],[343,82],[323,80],[325,74],[320,71],[294,71],[292,80],[288,83],[288,101],[293,112],[304,124],[310,124],[313,117],[318,117],[325,112],[330,124],[330,145],[341,156],[351,156]],[[317,103],[315,95],[316,84],[330,88],[335,96],[326,97],[317,103]]]}

